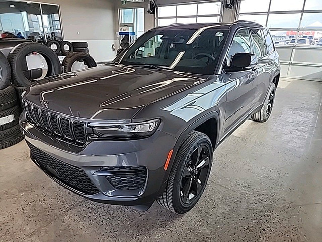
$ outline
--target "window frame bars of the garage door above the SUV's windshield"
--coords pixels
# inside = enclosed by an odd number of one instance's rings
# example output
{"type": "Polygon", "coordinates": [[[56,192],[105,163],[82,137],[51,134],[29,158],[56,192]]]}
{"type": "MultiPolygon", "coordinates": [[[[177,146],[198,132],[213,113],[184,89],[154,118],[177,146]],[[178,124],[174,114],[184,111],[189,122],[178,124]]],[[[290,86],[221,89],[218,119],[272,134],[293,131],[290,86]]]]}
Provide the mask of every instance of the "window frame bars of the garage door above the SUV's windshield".
{"type": "Polygon", "coordinates": [[[219,22],[222,21],[222,15],[223,15],[223,0],[208,0],[208,1],[196,1],[196,2],[187,2],[187,3],[176,3],[176,4],[167,4],[167,5],[160,5],[157,6],[157,10],[156,10],[156,26],[162,26],[159,25],[159,20],[160,19],[175,19],[175,23],[178,23],[177,20],[181,19],[181,18],[195,18],[195,23],[198,23],[198,17],[219,17],[219,22]],[[221,3],[221,8],[220,8],[220,13],[219,14],[206,14],[206,15],[198,15],[198,7],[199,4],[206,4],[206,3],[221,3]],[[178,6],[180,5],[189,5],[189,4],[197,4],[197,11],[196,11],[196,15],[183,15],[183,16],[178,16],[178,6]],[[158,8],[159,7],[168,7],[168,6],[176,6],[176,15],[175,16],[166,16],[166,17],[159,17],[158,16],[158,8]]]}

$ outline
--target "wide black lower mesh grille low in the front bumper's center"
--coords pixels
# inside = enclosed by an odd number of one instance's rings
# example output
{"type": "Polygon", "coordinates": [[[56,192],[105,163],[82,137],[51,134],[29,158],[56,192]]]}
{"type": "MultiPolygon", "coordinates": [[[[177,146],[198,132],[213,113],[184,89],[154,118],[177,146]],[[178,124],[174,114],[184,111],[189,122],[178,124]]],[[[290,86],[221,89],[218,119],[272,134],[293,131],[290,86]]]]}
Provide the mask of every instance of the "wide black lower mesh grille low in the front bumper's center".
{"type": "Polygon", "coordinates": [[[54,176],[67,186],[88,195],[100,192],[81,168],[61,162],[56,158],[47,155],[32,144],[28,143],[28,146],[40,168],[51,176],[54,176]]]}

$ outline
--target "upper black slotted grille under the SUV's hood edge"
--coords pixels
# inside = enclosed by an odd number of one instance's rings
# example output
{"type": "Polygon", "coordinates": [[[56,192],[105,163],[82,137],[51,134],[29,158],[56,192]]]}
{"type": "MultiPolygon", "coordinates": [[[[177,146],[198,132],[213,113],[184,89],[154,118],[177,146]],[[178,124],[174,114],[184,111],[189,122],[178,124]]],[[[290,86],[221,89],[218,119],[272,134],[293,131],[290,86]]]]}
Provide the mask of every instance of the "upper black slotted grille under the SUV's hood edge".
{"type": "Polygon", "coordinates": [[[46,130],[58,138],[66,139],[68,142],[86,143],[87,136],[84,122],[62,117],[29,103],[25,103],[25,109],[27,120],[37,125],[37,128],[46,130]]]}

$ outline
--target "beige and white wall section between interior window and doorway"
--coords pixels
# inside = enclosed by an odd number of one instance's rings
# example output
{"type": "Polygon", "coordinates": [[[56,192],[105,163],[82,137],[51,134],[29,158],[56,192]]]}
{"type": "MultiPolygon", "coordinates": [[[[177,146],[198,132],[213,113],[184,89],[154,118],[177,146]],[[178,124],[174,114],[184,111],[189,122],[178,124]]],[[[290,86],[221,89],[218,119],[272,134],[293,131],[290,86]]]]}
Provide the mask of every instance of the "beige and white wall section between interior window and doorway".
{"type": "Polygon", "coordinates": [[[95,61],[115,57],[116,44],[114,3],[118,0],[32,0],[59,4],[64,39],[86,41],[95,61]],[[79,34],[78,34],[79,32],[79,34]]]}

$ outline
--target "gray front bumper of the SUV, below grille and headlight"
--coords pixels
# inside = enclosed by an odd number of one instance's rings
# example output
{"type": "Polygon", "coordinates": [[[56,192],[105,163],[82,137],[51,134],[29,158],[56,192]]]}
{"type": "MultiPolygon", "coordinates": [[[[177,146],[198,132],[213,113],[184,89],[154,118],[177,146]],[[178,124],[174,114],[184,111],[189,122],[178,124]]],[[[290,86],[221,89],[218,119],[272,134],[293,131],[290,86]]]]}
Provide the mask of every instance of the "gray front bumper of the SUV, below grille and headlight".
{"type": "MultiPolygon", "coordinates": [[[[31,159],[34,163],[57,183],[78,195],[101,203],[135,206],[152,204],[165,188],[169,168],[165,171],[164,165],[177,139],[162,131],[157,130],[151,137],[141,140],[97,140],[89,142],[84,147],[77,147],[35,128],[26,121],[24,112],[19,123],[32,150],[31,159]],[[48,160],[55,163],[46,165],[48,163],[44,162],[48,160]],[[65,171],[64,177],[60,176],[59,171],[64,167],[72,169],[69,177],[65,171]],[[119,167],[122,168],[118,169],[119,167]],[[136,178],[130,178],[134,183],[131,189],[127,187],[124,189],[111,183],[111,179],[107,178],[111,168],[121,170],[122,173],[124,167],[146,167],[144,186],[136,189],[136,178]],[[82,172],[86,175],[83,176],[82,172]],[[69,183],[71,178],[76,183],[69,183]],[[84,192],[84,189],[77,187],[77,179],[83,181],[90,179],[97,190],[84,192]]],[[[140,177],[142,181],[142,176],[140,177]]],[[[129,183],[128,180],[126,182],[129,183]]]]}

